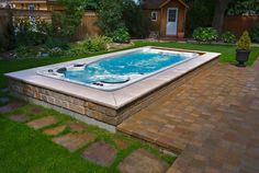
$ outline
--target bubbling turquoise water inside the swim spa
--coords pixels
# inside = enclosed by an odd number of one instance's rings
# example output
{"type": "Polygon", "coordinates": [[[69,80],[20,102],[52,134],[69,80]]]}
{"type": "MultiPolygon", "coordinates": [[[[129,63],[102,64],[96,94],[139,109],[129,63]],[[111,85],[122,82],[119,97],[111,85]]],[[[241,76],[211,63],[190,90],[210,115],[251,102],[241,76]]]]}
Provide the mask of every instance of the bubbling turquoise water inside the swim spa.
{"type": "Polygon", "coordinates": [[[179,54],[137,51],[87,65],[83,70],[65,71],[65,78],[82,83],[123,82],[185,60],[179,54]]]}

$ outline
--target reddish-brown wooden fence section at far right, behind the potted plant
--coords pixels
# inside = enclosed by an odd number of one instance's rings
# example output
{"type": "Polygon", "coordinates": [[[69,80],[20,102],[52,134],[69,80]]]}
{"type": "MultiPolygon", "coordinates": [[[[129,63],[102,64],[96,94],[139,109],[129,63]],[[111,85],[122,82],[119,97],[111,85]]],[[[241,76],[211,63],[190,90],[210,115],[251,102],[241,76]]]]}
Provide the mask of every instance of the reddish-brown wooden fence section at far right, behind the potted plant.
{"type": "Polygon", "coordinates": [[[226,16],[224,31],[230,31],[236,36],[240,36],[244,31],[249,31],[256,24],[259,24],[259,15],[226,16]]]}

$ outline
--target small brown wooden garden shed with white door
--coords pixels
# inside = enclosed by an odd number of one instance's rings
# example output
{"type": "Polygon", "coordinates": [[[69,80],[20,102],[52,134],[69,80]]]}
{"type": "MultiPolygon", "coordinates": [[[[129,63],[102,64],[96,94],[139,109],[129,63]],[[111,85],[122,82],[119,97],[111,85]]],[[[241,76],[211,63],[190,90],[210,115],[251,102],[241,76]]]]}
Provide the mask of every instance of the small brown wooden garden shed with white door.
{"type": "Polygon", "coordinates": [[[160,38],[183,38],[188,5],[182,0],[144,0],[149,32],[160,38]]]}

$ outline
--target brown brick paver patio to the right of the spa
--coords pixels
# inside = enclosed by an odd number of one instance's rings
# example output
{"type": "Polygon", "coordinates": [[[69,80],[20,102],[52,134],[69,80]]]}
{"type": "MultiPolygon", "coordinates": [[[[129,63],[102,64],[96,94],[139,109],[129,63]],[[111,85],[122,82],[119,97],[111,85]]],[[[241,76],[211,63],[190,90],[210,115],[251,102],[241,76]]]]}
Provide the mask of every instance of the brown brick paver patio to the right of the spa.
{"type": "Polygon", "coordinates": [[[168,173],[259,172],[259,61],[218,62],[119,129],[179,152],[168,173]]]}

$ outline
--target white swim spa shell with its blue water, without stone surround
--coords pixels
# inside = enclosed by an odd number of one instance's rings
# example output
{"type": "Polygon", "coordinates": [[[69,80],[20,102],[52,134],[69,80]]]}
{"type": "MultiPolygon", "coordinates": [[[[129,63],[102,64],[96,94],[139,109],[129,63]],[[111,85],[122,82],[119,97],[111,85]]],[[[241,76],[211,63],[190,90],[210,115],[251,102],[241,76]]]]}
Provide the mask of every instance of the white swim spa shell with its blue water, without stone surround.
{"type": "Polygon", "coordinates": [[[37,73],[99,90],[114,91],[198,56],[198,53],[144,48],[90,64],[71,62],[68,66],[40,70],[37,73]]]}

